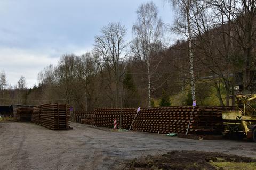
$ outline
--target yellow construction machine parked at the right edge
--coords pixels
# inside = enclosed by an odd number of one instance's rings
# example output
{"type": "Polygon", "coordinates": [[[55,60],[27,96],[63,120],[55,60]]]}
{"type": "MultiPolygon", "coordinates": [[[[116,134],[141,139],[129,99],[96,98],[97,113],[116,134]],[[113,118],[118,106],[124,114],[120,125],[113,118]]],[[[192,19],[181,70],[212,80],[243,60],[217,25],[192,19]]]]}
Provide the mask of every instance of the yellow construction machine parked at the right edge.
{"type": "Polygon", "coordinates": [[[237,95],[236,111],[222,112],[225,135],[247,137],[256,142],[256,94],[237,95]]]}

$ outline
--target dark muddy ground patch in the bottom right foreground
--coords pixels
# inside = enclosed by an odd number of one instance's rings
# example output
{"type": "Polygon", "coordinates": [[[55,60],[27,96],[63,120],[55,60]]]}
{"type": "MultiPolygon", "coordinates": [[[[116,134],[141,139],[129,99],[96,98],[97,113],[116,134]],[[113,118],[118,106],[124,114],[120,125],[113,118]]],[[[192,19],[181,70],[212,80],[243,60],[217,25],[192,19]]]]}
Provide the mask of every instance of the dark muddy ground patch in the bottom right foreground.
{"type": "Polygon", "coordinates": [[[224,170],[224,168],[234,169],[234,166],[231,167],[230,164],[235,164],[235,169],[248,168],[254,170],[256,168],[255,161],[256,159],[253,158],[214,152],[172,151],[162,155],[147,155],[135,158],[133,160],[116,164],[112,169],[224,170]],[[220,167],[220,165],[222,166],[220,167]]]}

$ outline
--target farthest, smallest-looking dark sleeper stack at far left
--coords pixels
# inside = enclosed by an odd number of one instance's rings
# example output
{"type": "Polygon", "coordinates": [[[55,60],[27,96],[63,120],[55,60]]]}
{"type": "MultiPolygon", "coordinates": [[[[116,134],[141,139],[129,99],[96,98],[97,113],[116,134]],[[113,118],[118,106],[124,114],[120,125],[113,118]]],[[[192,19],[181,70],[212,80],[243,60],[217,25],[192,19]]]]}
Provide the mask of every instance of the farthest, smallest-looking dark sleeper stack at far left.
{"type": "Polygon", "coordinates": [[[30,122],[33,108],[17,108],[16,121],[17,122],[30,122]]]}

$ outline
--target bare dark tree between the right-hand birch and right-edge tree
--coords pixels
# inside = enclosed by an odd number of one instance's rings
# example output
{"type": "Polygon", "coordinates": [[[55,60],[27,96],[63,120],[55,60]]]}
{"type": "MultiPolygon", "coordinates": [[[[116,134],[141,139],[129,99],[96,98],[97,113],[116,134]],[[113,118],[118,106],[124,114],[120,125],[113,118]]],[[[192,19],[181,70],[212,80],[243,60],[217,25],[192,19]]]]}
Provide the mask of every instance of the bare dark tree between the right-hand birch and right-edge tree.
{"type": "Polygon", "coordinates": [[[222,106],[224,103],[221,88],[222,86],[225,88],[226,106],[229,106],[230,77],[234,70],[231,62],[234,59],[233,43],[227,36],[231,32],[230,24],[223,20],[222,12],[216,13],[213,6],[206,1],[194,2],[190,10],[193,15],[190,18],[193,32],[193,54],[201,63],[201,67],[197,66],[196,69],[201,74],[207,72],[211,75],[207,79],[213,81],[222,106]]]}

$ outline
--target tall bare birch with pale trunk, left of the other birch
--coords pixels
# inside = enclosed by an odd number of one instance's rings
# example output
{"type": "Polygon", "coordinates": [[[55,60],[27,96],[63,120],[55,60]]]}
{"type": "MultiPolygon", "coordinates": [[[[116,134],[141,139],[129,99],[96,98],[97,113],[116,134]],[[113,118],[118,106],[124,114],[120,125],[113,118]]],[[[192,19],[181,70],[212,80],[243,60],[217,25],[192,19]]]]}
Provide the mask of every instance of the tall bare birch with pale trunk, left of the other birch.
{"type": "Polygon", "coordinates": [[[131,50],[135,60],[146,67],[148,82],[148,107],[151,103],[151,78],[154,70],[157,69],[161,60],[154,63],[155,54],[161,49],[161,37],[163,33],[163,22],[158,18],[158,8],[153,2],[142,4],[137,10],[137,22],[133,25],[133,35],[131,50]]]}

